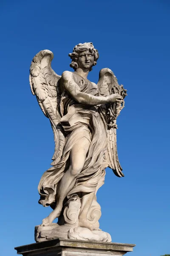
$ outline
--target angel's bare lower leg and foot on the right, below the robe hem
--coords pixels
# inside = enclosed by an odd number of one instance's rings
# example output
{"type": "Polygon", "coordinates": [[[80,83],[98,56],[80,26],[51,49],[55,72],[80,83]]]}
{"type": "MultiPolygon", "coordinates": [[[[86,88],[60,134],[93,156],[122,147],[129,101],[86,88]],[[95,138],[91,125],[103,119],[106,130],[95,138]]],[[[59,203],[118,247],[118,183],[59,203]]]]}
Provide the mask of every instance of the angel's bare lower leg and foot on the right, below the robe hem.
{"type": "Polygon", "coordinates": [[[87,215],[88,211],[91,207],[91,204],[94,199],[94,194],[95,192],[91,192],[88,194],[85,194],[82,196],[82,201],[81,201],[81,210],[79,214],[79,226],[80,227],[87,227],[90,230],[99,230],[99,228],[94,227],[88,220],[87,220],[87,215]]]}

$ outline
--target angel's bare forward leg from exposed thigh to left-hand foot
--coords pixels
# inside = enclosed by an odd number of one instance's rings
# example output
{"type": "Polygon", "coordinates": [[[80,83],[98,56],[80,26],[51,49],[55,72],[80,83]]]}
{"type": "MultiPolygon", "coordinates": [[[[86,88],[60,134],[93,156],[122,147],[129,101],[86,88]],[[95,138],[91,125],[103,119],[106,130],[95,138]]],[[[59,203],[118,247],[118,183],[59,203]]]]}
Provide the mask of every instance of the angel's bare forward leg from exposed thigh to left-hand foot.
{"type": "Polygon", "coordinates": [[[42,220],[43,226],[49,226],[55,218],[59,217],[63,207],[63,201],[71,189],[74,188],[76,178],[82,171],[89,146],[89,140],[86,137],[83,137],[72,147],[70,155],[71,165],[68,171],[65,172],[65,175],[62,177],[59,184],[57,206],[54,211],[48,215],[47,218],[42,220]]]}

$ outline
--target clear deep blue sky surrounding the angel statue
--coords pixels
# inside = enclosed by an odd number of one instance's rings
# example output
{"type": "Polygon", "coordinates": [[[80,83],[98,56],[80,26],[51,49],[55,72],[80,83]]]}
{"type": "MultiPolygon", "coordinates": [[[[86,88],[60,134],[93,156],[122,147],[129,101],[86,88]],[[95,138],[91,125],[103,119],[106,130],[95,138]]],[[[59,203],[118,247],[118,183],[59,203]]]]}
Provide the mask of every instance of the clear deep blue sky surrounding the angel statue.
{"type": "Polygon", "coordinates": [[[132,256],[170,253],[170,1],[6,0],[0,3],[1,253],[34,242],[34,226],[51,212],[37,185],[54,151],[49,120],[29,88],[29,66],[42,49],[59,75],[68,53],[93,42],[99,60],[128,90],[118,119],[124,178],[106,170],[97,197],[100,227],[113,242],[136,244],[132,256]]]}

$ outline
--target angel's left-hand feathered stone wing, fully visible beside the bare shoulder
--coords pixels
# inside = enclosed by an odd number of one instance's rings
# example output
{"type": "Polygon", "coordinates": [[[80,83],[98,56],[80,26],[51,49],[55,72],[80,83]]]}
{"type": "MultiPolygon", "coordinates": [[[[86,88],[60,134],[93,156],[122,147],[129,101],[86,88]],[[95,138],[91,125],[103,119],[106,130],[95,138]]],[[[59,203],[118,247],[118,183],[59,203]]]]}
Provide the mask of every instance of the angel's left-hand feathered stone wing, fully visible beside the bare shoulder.
{"type": "Polygon", "coordinates": [[[59,125],[60,115],[57,111],[57,103],[59,103],[57,91],[61,76],[58,76],[51,68],[53,56],[49,50],[42,50],[34,56],[31,62],[29,81],[31,92],[37,97],[42,112],[50,119],[54,132],[55,151],[51,163],[54,166],[62,156],[65,136],[59,125]]]}

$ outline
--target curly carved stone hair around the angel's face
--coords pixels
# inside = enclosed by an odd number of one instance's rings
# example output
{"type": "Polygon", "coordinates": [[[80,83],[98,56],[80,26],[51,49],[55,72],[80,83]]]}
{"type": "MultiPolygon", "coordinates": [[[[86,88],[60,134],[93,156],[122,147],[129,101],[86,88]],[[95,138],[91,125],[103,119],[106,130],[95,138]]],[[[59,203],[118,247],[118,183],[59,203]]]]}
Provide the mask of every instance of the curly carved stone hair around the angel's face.
{"type": "MultiPolygon", "coordinates": [[[[84,43],[84,44],[77,44],[73,48],[73,52],[68,54],[68,56],[70,56],[70,58],[72,59],[70,67],[72,67],[74,70],[76,70],[78,68],[79,53],[87,51],[87,50],[89,50],[89,52],[91,52],[92,55],[94,55],[93,66],[95,66],[97,63],[97,60],[99,58],[98,50],[94,49],[93,43],[84,43]]],[[[92,68],[91,68],[91,70],[92,70],[92,68]]]]}

